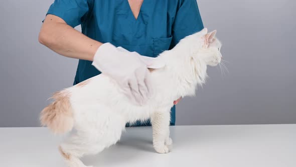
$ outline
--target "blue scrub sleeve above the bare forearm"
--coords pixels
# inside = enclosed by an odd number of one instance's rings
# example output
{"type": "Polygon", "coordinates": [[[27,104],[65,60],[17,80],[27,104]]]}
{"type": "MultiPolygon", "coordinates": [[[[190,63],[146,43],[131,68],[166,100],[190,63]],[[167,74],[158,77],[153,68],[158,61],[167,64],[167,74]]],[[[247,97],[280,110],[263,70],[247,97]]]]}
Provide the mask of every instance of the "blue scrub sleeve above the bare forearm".
{"type": "Polygon", "coordinates": [[[74,28],[84,21],[92,4],[93,0],[55,0],[46,15],[55,15],[74,28]]]}

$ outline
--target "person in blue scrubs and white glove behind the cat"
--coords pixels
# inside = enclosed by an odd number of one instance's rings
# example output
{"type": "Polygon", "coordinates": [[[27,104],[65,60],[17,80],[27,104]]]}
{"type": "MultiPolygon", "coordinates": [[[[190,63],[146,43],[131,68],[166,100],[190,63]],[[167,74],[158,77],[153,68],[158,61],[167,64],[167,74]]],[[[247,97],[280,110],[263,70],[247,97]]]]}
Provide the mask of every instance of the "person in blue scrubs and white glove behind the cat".
{"type": "MultiPolygon", "coordinates": [[[[153,57],[203,28],[196,0],[55,0],[39,41],[60,55],[79,59],[74,85],[103,72],[141,105],[152,96],[146,67],[153,57]],[[74,29],[78,25],[82,33],[74,29]]],[[[172,102],[171,125],[179,100],[172,102]]],[[[132,126],[142,125],[151,124],[132,126]]]]}

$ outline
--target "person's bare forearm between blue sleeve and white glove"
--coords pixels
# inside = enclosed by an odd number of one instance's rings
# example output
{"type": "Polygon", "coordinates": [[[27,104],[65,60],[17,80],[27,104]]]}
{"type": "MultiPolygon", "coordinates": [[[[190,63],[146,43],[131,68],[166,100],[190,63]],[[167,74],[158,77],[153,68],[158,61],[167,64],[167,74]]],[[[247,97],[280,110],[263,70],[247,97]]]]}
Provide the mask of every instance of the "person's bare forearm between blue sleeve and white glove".
{"type": "Polygon", "coordinates": [[[93,61],[102,43],[95,41],[54,15],[47,15],[39,33],[39,42],[60,55],[93,61]]]}

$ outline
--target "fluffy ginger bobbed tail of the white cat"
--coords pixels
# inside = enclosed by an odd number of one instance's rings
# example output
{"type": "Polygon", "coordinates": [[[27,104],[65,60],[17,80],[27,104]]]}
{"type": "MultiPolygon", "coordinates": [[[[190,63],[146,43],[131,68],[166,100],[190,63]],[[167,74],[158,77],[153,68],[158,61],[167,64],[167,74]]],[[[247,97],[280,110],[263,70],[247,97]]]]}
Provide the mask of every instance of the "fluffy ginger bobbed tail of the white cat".
{"type": "Polygon", "coordinates": [[[53,103],[44,108],[40,114],[42,126],[47,126],[53,133],[60,134],[72,130],[74,118],[67,90],[56,92],[53,103]]]}

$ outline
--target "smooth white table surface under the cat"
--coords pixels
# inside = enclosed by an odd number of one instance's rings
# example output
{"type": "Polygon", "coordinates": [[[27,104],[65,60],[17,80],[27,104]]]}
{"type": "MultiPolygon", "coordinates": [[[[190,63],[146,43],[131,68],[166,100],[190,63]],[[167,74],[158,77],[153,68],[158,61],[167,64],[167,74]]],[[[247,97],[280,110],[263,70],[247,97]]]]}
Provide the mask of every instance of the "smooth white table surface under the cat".
{"type": "MultiPolygon", "coordinates": [[[[94,166],[295,167],[296,124],[171,127],[173,150],[158,154],[151,127],[127,128],[103,152],[82,158],[94,166]]],[[[0,166],[65,166],[47,128],[0,128],[0,166]]]]}

